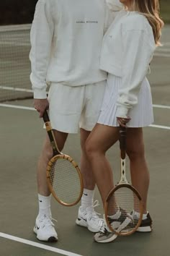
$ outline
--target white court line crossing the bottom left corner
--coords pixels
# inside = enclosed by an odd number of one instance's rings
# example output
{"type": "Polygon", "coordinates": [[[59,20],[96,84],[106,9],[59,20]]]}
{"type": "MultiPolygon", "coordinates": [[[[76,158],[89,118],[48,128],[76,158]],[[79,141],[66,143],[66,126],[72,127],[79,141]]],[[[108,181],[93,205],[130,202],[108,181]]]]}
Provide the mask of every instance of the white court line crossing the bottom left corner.
{"type": "Polygon", "coordinates": [[[0,237],[4,237],[6,239],[13,240],[13,241],[16,241],[16,242],[19,242],[19,243],[22,243],[22,244],[29,244],[29,245],[31,245],[33,247],[38,247],[38,248],[41,248],[41,249],[46,249],[46,250],[48,250],[50,252],[58,252],[61,255],[82,256],[82,255],[77,255],[76,253],[73,253],[73,252],[65,251],[63,249],[58,249],[58,248],[55,248],[55,247],[50,247],[49,245],[45,245],[45,244],[39,244],[37,242],[32,242],[32,241],[27,240],[27,239],[22,239],[20,237],[11,236],[9,234],[4,234],[4,233],[1,233],[1,232],[0,232],[0,237]]]}

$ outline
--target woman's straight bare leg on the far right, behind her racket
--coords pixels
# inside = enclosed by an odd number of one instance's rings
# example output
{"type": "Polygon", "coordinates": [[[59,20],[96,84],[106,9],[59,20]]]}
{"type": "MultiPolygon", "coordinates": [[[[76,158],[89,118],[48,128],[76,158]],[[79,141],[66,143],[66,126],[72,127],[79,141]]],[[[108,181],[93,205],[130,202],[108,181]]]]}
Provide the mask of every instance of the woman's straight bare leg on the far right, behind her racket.
{"type": "Polygon", "coordinates": [[[127,136],[127,154],[130,158],[130,174],[133,187],[138,190],[144,204],[146,204],[149,187],[149,173],[145,158],[142,128],[129,128],[127,136]]]}

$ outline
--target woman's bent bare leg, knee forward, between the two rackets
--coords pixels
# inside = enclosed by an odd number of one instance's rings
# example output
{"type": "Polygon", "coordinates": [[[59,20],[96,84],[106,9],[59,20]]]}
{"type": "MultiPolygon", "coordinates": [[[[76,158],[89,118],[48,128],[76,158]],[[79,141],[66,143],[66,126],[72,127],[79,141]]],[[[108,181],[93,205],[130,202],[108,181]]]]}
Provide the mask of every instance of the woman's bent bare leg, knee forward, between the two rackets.
{"type": "Polygon", "coordinates": [[[103,205],[109,191],[114,187],[112,168],[107,161],[105,153],[115,144],[118,137],[119,129],[117,127],[96,124],[86,142],[86,153],[91,163],[103,205]]]}

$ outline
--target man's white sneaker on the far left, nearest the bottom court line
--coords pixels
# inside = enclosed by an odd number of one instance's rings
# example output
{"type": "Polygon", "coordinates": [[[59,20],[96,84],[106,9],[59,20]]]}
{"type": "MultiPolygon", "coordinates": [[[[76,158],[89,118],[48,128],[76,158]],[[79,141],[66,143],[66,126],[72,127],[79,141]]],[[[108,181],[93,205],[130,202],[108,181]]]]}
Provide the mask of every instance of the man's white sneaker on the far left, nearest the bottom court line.
{"type": "MultiPolygon", "coordinates": [[[[55,220],[54,220],[55,221],[55,220]]],[[[58,235],[54,228],[52,218],[44,215],[37,216],[35,221],[34,232],[37,234],[37,239],[40,241],[57,242],[58,235]]]]}

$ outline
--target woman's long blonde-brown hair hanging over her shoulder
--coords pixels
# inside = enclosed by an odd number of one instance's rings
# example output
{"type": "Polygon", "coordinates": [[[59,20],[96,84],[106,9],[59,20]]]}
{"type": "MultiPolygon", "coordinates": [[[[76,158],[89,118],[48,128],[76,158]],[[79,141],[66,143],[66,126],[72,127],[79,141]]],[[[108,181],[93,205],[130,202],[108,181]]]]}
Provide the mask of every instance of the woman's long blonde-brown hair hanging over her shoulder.
{"type": "Polygon", "coordinates": [[[161,20],[158,0],[132,0],[132,9],[143,14],[153,29],[153,35],[157,46],[160,46],[161,29],[164,22],[161,20]]]}

